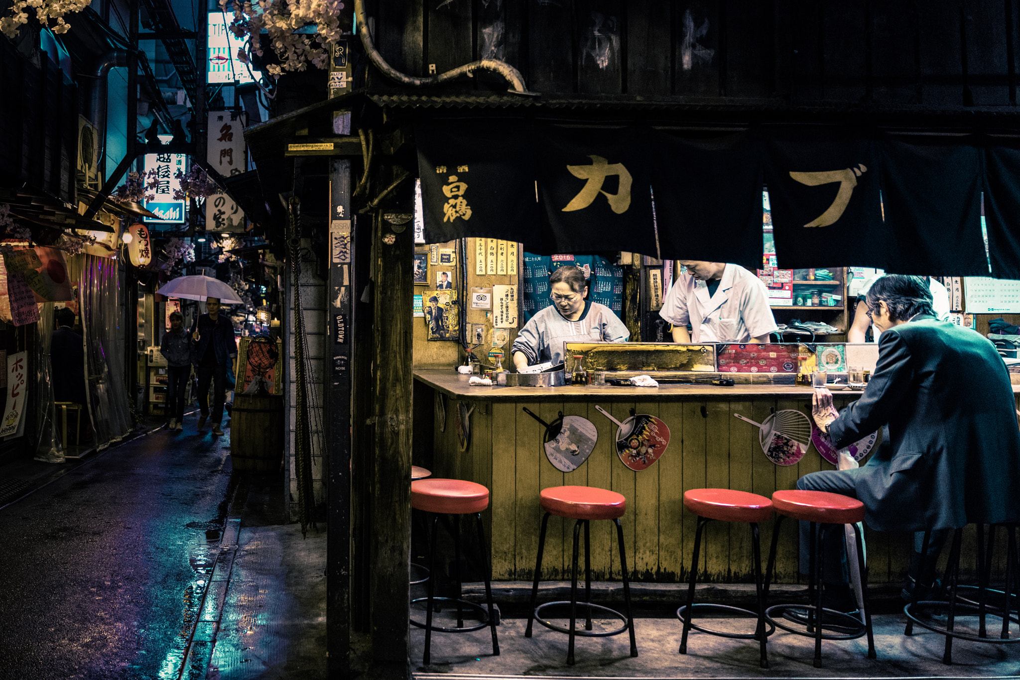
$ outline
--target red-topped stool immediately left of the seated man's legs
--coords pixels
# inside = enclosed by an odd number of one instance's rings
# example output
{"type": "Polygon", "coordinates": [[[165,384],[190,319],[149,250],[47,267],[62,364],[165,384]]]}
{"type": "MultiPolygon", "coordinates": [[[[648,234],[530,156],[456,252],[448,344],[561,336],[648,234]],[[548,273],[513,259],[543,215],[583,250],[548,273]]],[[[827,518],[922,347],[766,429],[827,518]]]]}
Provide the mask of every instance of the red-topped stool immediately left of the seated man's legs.
{"type": "MultiPolygon", "coordinates": [[[[868,636],[868,659],[875,658],[875,639],[871,632],[871,607],[868,605],[868,573],[864,564],[864,542],[861,538],[861,527],[858,522],[864,521],[864,504],[857,499],[839,493],[829,493],[827,491],[808,491],[803,489],[790,489],[775,491],[772,493],[772,507],[779,517],[776,519],[772,529],[772,547],[768,554],[768,570],[765,574],[765,595],[768,596],[768,585],[772,581],[772,568],[775,565],[775,550],[779,542],[779,525],[784,517],[811,522],[811,553],[808,574],[808,601],[814,605],[774,605],[765,610],[765,618],[772,625],[783,630],[815,638],[815,668],[822,667],[822,640],[855,640],[863,635],[868,636]],[[857,565],[861,574],[861,592],[864,595],[864,621],[857,617],[827,610],[822,608],[822,559],[824,552],[824,535],[828,531],[842,530],[840,525],[849,524],[854,527],[854,534],[857,536],[857,565]],[[821,525],[820,527],[818,525],[821,525]],[[817,534],[817,535],[816,535],[817,534]],[[817,586],[818,594],[815,595],[817,586]],[[807,612],[808,626],[806,630],[790,628],[775,619],[787,609],[805,610],[807,612]],[[835,619],[844,619],[847,622],[846,628],[851,629],[846,635],[822,633],[823,616],[835,619]],[[814,625],[815,617],[818,618],[819,625],[814,625]]],[[[839,624],[843,626],[843,624],[839,624]]]]}

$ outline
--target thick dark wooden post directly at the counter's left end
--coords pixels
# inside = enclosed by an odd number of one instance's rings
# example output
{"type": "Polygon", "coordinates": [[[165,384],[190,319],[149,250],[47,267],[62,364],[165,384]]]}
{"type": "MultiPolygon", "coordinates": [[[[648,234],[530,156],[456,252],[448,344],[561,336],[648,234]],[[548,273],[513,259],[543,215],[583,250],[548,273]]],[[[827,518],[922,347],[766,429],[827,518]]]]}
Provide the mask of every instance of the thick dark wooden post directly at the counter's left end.
{"type": "MultiPolygon", "coordinates": [[[[391,177],[402,170],[394,168],[391,177]]],[[[388,186],[392,181],[381,182],[388,186]]],[[[386,203],[413,206],[413,182],[405,182],[386,203]],[[399,194],[399,196],[397,196],[399,194]]],[[[404,211],[406,212],[406,210],[404,211]]],[[[414,229],[373,213],[375,456],[371,499],[373,526],[371,634],[375,664],[394,674],[407,673],[411,530],[411,274],[414,229]]]]}

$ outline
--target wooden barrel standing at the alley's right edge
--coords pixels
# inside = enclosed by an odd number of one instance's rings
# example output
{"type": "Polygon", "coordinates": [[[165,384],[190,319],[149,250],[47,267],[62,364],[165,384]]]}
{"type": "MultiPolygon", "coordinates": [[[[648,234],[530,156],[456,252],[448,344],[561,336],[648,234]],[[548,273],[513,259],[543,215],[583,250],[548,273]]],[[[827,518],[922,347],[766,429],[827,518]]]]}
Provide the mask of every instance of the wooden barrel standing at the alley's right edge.
{"type": "Polygon", "coordinates": [[[231,415],[235,470],[278,472],[284,462],[284,398],[235,395],[231,415]]]}

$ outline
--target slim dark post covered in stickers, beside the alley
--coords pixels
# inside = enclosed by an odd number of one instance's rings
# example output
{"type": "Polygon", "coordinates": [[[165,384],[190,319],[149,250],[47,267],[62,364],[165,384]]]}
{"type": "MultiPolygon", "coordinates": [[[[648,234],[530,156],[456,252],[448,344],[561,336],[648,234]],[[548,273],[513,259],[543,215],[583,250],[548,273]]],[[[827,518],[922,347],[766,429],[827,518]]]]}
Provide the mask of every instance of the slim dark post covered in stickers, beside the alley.
{"type": "Polygon", "coordinates": [[[326,647],[329,677],[351,675],[351,326],[354,249],[351,161],[329,161],[326,353],[326,647]]]}

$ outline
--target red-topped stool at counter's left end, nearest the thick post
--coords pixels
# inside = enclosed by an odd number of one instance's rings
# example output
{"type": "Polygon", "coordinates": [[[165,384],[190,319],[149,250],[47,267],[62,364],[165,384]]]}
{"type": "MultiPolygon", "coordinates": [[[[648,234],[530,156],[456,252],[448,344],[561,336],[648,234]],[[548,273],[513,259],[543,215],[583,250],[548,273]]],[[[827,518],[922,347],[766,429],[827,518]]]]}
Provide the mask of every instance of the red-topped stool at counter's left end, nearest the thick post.
{"type": "Polygon", "coordinates": [[[457,596],[456,597],[436,597],[436,579],[428,579],[428,596],[412,599],[411,604],[425,600],[425,623],[422,624],[411,619],[411,625],[425,629],[425,653],[423,663],[427,666],[431,661],[432,631],[443,633],[469,633],[474,630],[481,630],[486,626],[493,631],[493,656],[500,653],[500,643],[496,637],[496,614],[493,611],[493,588],[489,579],[489,561],[486,560],[486,532],[481,525],[481,511],[489,507],[489,489],[473,481],[461,479],[418,479],[411,482],[411,508],[432,513],[432,540],[429,550],[428,573],[436,573],[436,533],[439,528],[440,515],[454,516],[453,544],[455,562],[457,565],[457,596]],[[460,598],[461,578],[460,578],[460,516],[474,515],[478,529],[478,544],[481,546],[481,569],[486,579],[486,599],[489,604],[489,612],[474,603],[469,603],[460,598]],[[457,604],[457,627],[439,628],[432,626],[432,604],[435,601],[449,601],[457,604]],[[481,615],[481,623],[474,626],[464,625],[464,608],[473,609],[481,615]]]}

